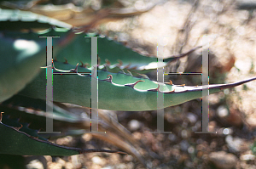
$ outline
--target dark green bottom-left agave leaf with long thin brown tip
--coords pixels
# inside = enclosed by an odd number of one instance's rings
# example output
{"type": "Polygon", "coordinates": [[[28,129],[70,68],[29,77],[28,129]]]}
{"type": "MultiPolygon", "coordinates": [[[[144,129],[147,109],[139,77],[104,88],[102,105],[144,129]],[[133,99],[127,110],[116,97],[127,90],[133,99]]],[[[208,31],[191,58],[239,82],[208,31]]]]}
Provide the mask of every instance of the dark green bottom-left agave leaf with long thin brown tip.
{"type": "MultiPolygon", "coordinates": [[[[2,119],[2,113],[1,113],[2,119]]],[[[22,128],[22,127],[21,127],[22,128]]],[[[49,141],[38,139],[26,132],[20,132],[20,128],[9,127],[0,121],[0,153],[8,155],[79,155],[92,152],[122,153],[106,149],[79,149],[53,144],[49,141]]]]}

